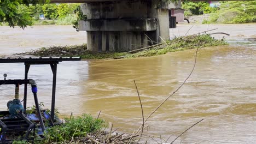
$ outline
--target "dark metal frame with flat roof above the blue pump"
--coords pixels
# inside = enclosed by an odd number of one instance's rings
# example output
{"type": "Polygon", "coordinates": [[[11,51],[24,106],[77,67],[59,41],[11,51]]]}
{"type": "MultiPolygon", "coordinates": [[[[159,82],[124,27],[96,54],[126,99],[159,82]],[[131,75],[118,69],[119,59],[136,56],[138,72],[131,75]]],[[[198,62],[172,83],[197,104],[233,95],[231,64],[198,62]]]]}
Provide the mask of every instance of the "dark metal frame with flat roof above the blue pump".
{"type": "MultiPolygon", "coordinates": [[[[37,58],[0,58],[0,63],[24,63],[25,64],[25,79],[28,80],[28,71],[31,65],[49,64],[53,72],[53,89],[51,94],[51,119],[54,121],[55,111],[55,95],[56,95],[56,77],[57,77],[57,64],[62,61],[80,61],[80,57],[37,57],[37,58]]],[[[27,109],[27,83],[24,84],[24,110],[27,109]]],[[[51,124],[53,125],[53,121],[51,124]]]]}

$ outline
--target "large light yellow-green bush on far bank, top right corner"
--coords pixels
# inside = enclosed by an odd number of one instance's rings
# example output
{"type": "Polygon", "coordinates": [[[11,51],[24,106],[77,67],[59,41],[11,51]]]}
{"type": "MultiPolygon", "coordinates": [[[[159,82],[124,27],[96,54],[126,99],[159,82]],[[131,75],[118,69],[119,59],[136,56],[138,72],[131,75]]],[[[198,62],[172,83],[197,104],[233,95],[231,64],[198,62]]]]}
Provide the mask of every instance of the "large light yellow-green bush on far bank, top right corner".
{"type": "Polygon", "coordinates": [[[216,13],[203,23],[248,23],[256,22],[256,1],[223,2],[216,13]]]}

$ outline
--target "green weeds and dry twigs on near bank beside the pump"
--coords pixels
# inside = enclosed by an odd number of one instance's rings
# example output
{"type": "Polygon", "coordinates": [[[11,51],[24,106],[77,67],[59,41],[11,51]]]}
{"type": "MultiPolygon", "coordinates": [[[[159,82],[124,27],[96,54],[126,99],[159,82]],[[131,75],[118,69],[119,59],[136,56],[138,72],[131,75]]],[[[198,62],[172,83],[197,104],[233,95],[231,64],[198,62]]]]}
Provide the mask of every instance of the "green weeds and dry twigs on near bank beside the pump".
{"type": "MultiPolygon", "coordinates": [[[[100,115],[98,115],[99,117],[100,115]]],[[[117,133],[113,124],[109,125],[101,118],[88,114],[66,118],[60,125],[49,127],[43,136],[36,135],[34,141],[14,141],[14,144],[45,143],[135,143],[139,135],[117,133]]]]}

